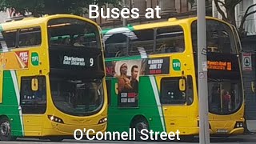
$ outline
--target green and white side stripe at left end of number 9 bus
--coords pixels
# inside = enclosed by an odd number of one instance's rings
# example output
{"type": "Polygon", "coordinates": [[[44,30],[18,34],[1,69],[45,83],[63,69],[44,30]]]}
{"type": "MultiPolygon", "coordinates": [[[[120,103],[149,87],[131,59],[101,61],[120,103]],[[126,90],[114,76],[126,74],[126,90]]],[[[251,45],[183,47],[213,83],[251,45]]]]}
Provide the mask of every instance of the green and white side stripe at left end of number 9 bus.
{"type": "MultiPolygon", "coordinates": [[[[0,25],[0,38],[2,35],[2,25],[0,25]]],[[[2,51],[8,52],[5,41],[1,41],[2,51]]],[[[2,66],[0,66],[2,70],[2,66]]],[[[2,103],[0,104],[0,114],[10,120],[11,132],[14,136],[23,136],[22,111],[19,106],[18,79],[14,70],[4,70],[2,73],[2,103]]]]}

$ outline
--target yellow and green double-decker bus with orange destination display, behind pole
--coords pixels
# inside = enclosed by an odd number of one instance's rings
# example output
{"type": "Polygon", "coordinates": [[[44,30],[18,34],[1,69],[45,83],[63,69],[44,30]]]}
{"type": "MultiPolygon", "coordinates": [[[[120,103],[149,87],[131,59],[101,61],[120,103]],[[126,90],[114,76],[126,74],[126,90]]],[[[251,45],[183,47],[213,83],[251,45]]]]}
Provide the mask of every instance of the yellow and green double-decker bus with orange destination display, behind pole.
{"type": "MultiPolygon", "coordinates": [[[[206,18],[210,134],[244,131],[241,50],[233,26],[206,18]]],[[[199,133],[197,18],[103,30],[109,131],[199,133]]]]}

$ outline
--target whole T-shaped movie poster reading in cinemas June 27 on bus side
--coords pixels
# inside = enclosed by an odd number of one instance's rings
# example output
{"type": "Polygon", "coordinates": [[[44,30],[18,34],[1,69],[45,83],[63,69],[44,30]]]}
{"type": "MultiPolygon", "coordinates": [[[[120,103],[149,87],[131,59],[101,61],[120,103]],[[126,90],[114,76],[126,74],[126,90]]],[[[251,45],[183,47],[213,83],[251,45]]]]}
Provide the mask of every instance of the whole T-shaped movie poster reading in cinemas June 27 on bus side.
{"type": "Polygon", "coordinates": [[[169,73],[169,57],[106,62],[107,77],[118,78],[118,104],[121,107],[138,106],[140,76],[169,73]]]}

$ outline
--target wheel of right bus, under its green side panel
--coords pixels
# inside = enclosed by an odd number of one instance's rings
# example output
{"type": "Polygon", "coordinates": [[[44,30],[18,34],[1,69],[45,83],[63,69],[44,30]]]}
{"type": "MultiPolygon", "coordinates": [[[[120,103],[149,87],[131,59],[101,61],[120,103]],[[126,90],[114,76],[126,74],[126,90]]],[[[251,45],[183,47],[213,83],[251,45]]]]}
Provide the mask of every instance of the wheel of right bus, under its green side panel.
{"type": "MultiPolygon", "coordinates": [[[[132,128],[134,128],[135,129],[135,132],[136,132],[136,140],[141,140],[141,131],[143,130],[143,129],[146,129],[146,130],[149,130],[149,124],[148,124],[148,122],[146,121],[146,119],[145,118],[136,118],[135,120],[134,120],[134,122],[132,122],[132,126],[131,126],[132,128]]],[[[146,132],[144,132],[144,133],[146,133],[146,132]]]]}

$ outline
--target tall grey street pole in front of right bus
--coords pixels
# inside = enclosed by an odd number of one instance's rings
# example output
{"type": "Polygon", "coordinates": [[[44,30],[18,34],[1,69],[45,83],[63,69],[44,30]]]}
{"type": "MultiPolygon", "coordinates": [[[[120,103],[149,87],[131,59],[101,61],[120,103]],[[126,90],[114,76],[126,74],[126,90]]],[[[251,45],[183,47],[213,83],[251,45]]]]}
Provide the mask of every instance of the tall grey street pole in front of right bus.
{"type": "Polygon", "coordinates": [[[206,57],[206,1],[197,0],[198,6],[198,94],[199,94],[199,143],[210,143],[208,122],[208,86],[206,57]]]}

